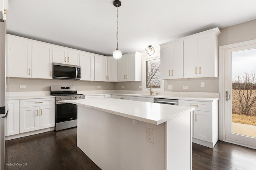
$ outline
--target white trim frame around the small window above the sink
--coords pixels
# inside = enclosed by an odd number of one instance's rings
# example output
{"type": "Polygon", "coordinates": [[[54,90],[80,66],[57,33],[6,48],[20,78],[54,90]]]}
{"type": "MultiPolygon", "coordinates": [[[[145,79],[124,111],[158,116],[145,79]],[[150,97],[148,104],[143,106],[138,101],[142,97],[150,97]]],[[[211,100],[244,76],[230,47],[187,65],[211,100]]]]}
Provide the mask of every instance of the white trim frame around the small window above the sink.
{"type": "MultiPolygon", "coordinates": [[[[154,57],[144,57],[142,59],[142,91],[150,91],[150,88],[146,88],[146,61],[160,59],[160,55],[154,57]]],[[[160,68],[161,69],[161,68],[160,68]]],[[[161,70],[160,70],[161,71],[161,70]]],[[[163,92],[164,91],[164,80],[161,79],[161,88],[153,88],[154,92],[163,92]]]]}

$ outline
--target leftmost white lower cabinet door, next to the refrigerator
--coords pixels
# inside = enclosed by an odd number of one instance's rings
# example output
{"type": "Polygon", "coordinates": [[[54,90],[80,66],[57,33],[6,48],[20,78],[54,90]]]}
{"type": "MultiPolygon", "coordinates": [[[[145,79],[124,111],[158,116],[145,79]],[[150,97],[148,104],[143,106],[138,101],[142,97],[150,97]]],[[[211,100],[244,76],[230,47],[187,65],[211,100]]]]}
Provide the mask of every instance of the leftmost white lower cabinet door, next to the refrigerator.
{"type": "Polygon", "coordinates": [[[7,136],[20,133],[20,100],[8,101],[7,136]]]}

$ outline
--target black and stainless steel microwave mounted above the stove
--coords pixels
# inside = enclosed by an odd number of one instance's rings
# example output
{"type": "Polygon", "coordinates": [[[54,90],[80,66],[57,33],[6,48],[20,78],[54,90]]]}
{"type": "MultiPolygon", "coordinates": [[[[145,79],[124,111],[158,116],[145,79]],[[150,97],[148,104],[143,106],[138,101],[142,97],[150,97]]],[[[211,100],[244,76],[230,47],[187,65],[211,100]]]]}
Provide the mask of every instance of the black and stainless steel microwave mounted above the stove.
{"type": "Polygon", "coordinates": [[[80,66],[53,63],[52,72],[53,72],[53,76],[52,76],[53,78],[76,79],[76,80],[79,80],[81,78],[80,66]]]}

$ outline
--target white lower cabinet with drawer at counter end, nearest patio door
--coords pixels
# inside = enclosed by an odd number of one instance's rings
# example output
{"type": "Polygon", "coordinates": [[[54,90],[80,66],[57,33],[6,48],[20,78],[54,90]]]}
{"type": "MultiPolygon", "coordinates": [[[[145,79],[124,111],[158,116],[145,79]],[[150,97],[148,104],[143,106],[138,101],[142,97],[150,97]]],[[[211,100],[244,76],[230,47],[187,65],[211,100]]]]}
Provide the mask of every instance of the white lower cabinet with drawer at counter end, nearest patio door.
{"type": "Polygon", "coordinates": [[[179,106],[195,107],[192,115],[192,142],[213,148],[218,141],[218,101],[179,100],[179,106]]]}

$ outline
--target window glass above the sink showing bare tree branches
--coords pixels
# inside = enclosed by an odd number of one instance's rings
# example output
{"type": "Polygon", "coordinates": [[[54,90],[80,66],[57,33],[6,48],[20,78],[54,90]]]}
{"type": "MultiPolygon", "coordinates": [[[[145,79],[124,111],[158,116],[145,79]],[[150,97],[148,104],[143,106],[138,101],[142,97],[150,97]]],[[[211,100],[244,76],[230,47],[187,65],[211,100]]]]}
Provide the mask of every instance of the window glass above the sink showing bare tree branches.
{"type": "Polygon", "coordinates": [[[146,87],[150,87],[152,82],[153,88],[161,87],[160,79],[160,59],[146,61],[146,87]]]}

